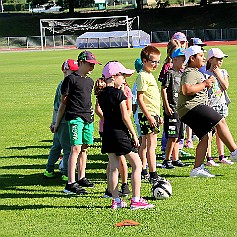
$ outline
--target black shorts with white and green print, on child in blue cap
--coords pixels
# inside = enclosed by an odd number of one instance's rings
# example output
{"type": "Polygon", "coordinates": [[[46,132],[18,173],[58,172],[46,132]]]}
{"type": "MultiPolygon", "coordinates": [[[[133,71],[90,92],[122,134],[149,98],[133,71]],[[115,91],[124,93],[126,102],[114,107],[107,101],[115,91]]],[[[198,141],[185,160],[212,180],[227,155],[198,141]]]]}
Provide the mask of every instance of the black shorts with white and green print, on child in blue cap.
{"type": "Polygon", "coordinates": [[[184,126],[181,122],[178,113],[173,113],[168,116],[164,113],[164,132],[165,138],[184,138],[184,126]]]}

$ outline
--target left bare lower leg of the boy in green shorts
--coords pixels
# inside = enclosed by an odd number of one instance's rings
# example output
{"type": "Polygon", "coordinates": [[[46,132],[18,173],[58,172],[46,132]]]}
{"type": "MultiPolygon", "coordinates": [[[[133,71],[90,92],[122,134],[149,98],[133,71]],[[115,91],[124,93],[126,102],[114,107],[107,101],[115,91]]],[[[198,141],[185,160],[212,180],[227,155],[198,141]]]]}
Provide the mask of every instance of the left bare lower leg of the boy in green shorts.
{"type": "Polygon", "coordinates": [[[78,146],[72,146],[71,152],[68,157],[68,183],[75,183],[75,169],[76,169],[76,163],[78,155],[81,151],[81,145],[78,146]]]}

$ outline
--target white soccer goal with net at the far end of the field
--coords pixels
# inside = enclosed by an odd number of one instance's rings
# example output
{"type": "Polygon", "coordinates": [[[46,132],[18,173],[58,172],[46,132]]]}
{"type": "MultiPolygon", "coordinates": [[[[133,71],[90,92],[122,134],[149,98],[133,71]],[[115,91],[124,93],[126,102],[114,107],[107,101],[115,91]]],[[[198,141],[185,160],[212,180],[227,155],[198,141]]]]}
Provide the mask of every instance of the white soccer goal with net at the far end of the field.
{"type": "MultiPolygon", "coordinates": [[[[139,16],[88,17],[64,19],[40,19],[41,48],[57,46],[57,40],[64,41],[65,35],[84,34],[87,32],[104,32],[107,30],[125,31],[127,47],[130,47],[130,31],[139,30],[139,16]],[[49,43],[47,39],[51,38],[49,43]]],[[[74,40],[76,44],[76,39],[74,40]]],[[[62,43],[64,45],[64,42],[62,43]]]]}

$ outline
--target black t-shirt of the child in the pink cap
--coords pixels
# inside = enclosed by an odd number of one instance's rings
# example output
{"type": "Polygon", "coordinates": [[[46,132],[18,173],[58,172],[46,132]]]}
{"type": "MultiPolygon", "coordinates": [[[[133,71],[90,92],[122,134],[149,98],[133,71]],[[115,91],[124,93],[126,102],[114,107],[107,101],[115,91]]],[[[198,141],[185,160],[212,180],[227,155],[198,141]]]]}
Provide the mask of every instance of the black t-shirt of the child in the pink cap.
{"type": "Polygon", "coordinates": [[[98,102],[103,111],[104,131],[106,128],[127,130],[127,127],[122,120],[120,110],[120,103],[126,99],[127,97],[122,90],[112,86],[105,87],[103,92],[99,94],[98,102]]]}

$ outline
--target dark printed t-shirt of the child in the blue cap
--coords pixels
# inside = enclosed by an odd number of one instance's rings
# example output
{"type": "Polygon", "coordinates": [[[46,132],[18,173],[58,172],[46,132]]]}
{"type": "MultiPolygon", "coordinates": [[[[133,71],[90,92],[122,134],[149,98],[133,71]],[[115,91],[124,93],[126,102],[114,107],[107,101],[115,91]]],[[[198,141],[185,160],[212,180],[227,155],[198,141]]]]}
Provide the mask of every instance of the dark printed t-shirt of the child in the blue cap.
{"type": "Polygon", "coordinates": [[[165,77],[162,81],[162,86],[167,88],[166,91],[169,105],[174,111],[177,111],[181,76],[181,71],[177,72],[171,68],[166,72],[165,77]]]}

